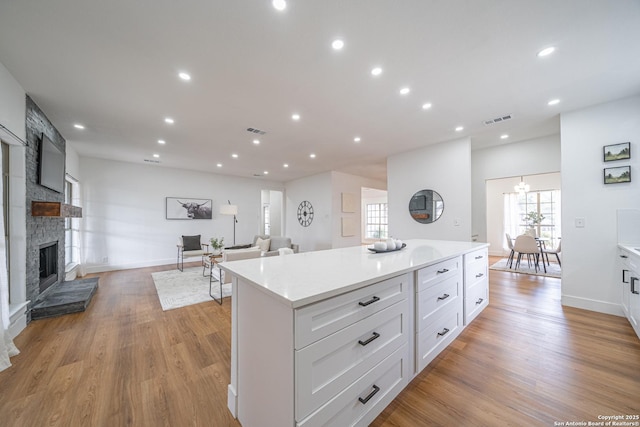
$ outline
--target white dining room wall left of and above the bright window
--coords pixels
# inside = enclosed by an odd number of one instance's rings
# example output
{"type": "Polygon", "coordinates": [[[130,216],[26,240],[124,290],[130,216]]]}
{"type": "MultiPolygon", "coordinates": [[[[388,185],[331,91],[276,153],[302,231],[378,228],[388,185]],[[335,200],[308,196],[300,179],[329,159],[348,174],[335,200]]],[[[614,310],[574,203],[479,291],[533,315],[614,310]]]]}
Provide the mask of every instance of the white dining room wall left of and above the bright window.
{"type": "MultiPolygon", "coordinates": [[[[531,191],[560,190],[560,172],[541,175],[526,175],[524,182],[531,191]]],[[[509,255],[504,234],[504,194],[513,193],[513,187],[520,183],[520,177],[490,179],[486,183],[486,242],[489,243],[489,255],[509,255]]],[[[515,236],[511,236],[515,238],[515,236]]]]}

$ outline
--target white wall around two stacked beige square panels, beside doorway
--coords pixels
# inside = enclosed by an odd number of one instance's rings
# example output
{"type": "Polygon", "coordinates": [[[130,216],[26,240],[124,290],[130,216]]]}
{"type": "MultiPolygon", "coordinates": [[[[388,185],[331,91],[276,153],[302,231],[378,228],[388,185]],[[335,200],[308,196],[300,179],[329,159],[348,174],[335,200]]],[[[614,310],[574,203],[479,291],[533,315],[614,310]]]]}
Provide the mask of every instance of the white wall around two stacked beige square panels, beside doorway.
{"type": "Polygon", "coordinates": [[[384,190],[386,183],[361,176],[349,175],[341,172],[331,173],[332,187],[332,247],[344,248],[362,244],[362,187],[384,190]],[[355,197],[355,212],[342,212],[342,193],[352,194],[355,197]],[[342,219],[348,218],[355,222],[355,235],[342,236],[342,219]]]}

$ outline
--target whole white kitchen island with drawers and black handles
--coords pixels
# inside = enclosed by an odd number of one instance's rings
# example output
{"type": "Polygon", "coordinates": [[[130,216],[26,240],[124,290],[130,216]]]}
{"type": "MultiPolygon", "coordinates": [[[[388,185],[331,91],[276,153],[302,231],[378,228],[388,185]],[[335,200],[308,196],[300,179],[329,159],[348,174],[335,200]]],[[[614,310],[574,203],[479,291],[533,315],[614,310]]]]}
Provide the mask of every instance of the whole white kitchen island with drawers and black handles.
{"type": "Polygon", "coordinates": [[[366,425],[486,307],[488,244],[405,243],[220,265],[244,427],[366,425]]]}

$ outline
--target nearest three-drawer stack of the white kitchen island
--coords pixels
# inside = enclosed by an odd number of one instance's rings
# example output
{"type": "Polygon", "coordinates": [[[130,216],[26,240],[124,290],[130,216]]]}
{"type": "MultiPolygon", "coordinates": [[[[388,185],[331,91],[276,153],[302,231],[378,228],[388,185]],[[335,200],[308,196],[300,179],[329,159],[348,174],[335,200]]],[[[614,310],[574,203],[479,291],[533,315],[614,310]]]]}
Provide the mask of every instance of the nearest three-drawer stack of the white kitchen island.
{"type": "Polygon", "coordinates": [[[380,413],[384,409],[377,408],[381,397],[393,397],[402,390],[408,376],[409,285],[409,275],[404,274],[296,310],[295,328],[302,331],[297,334],[299,342],[306,342],[304,331],[325,332],[315,342],[295,349],[295,418],[300,425],[325,425],[320,421],[325,418],[335,422],[329,415],[335,413],[336,407],[344,413],[344,425],[353,425],[366,419],[371,411],[380,413]],[[305,326],[298,328],[299,323],[305,326]],[[400,348],[404,350],[398,352],[400,348]],[[405,372],[395,369],[396,375],[391,375],[385,384],[378,384],[375,381],[387,369],[376,367],[389,358],[389,368],[400,366],[405,372]],[[363,379],[365,376],[369,378],[363,379]],[[356,382],[361,384],[359,388],[345,390],[356,382]],[[367,396],[371,397],[363,402],[367,396]],[[321,409],[331,401],[332,410],[321,409]],[[313,413],[319,409],[319,414],[313,413]],[[346,409],[349,410],[344,412],[346,409]],[[329,415],[323,416],[324,413],[329,415]],[[345,419],[346,413],[355,418],[345,419]]]}

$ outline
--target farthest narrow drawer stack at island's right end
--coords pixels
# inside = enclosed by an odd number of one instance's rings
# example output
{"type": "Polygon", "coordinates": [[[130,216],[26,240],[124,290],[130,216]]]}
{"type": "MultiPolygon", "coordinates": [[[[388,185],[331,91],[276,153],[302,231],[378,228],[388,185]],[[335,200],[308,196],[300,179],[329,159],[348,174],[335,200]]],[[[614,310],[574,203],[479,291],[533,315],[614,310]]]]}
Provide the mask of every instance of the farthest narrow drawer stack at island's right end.
{"type": "Polygon", "coordinates": [[[464,324],[471,323],[489,305],[488,250],[464,255],[464,324]]]}

